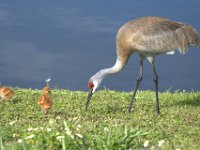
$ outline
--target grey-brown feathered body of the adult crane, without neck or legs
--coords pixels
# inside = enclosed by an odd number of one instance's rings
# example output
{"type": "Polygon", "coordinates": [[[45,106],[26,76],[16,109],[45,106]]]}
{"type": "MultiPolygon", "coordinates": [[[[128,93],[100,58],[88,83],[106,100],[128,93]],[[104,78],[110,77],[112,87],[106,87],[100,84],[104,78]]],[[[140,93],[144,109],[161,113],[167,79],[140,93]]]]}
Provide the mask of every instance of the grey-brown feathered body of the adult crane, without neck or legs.
{"type": "Polygon", "coordinates": [[[197,31],[190,25],[160,17],[144,17],[124,24],[117,33],[117,56],[126,62],[131,53],[144,56],[178,49],[185,54],[188,45],[200,48],[197,31]]]}

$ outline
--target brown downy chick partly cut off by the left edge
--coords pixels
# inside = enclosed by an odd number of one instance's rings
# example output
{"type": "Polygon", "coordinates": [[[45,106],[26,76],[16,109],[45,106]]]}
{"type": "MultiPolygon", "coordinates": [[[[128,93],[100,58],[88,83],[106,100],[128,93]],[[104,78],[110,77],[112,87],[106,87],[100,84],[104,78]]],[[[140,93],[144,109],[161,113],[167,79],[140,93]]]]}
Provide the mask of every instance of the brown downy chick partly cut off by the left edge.
{"type": "Polygon", "coordinates": [[[15,95],[15,93],[11,88],[5,87],[5,86],[0,86],[1,99],[6,100],[6,101],[11,101],[13,99],[14,95],[15,95]]]}

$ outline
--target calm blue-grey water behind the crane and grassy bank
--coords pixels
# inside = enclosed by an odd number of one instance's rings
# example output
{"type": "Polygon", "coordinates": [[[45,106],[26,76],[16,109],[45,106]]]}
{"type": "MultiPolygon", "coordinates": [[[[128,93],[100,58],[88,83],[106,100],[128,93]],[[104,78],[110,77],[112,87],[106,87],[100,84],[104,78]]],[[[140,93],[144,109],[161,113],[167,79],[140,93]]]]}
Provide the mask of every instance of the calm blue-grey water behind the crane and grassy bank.
{"type": "MultiPolygon", "coordinates": [[[[0,81],[3,85],[87,90],[90,76],[115,63],[115,35],[125,22],[162,16],[191,24],[200,32],[200,1],[19,0],[0,1],[0,81]]],[[[102,88],[130,91],[138,56],[107,77],[102,88]]],[[[159,89],[200,90],[200,50],[156,59],[159,89]]],[[[154,89],[146,61],[141,89],[154,89]]]]}

